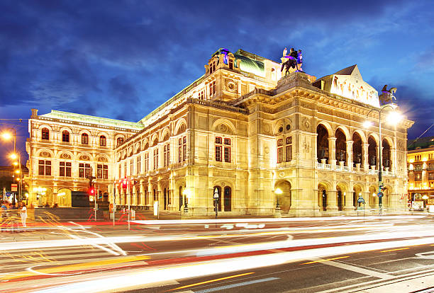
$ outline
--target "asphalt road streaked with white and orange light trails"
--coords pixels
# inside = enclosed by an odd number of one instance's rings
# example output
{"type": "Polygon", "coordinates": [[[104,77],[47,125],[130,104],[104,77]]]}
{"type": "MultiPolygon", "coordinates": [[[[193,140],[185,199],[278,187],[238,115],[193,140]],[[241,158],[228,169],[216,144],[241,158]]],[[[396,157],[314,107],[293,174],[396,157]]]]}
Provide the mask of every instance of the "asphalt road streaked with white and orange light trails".
{"type": "Polygon", "coordinates": [[[0,291],[434,292],[432,217],[220,221],[1,233],[0,291]]]}

